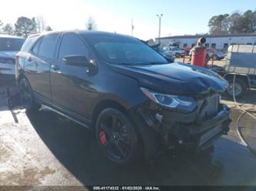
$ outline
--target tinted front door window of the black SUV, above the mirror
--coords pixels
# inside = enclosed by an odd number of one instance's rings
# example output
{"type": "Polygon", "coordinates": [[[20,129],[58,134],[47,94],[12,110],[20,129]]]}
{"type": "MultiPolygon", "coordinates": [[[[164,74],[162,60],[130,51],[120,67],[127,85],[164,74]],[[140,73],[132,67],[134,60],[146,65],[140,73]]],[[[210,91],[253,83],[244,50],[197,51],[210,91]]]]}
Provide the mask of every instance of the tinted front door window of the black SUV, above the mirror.
{"type": "Polygon", "coordinates": [[[62,43],[58,51],[58,60],[62,60],[68,55],[85,55],[88,57],[88,51],[85,44],[75,34],[65,34],[62,38],[62,43]]]}

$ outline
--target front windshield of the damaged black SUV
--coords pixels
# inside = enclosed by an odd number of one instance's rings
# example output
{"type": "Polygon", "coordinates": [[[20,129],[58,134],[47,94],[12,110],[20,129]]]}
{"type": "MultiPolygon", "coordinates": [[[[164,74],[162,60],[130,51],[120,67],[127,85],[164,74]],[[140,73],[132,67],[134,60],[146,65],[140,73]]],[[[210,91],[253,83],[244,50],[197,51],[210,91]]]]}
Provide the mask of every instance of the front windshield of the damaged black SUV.
{"type": "Polygon", "coordinates": [[[109,64],[165,64],[155,50],[136,38],[118,35],[97,35],[86,38],[91,47],[109,64]]]}

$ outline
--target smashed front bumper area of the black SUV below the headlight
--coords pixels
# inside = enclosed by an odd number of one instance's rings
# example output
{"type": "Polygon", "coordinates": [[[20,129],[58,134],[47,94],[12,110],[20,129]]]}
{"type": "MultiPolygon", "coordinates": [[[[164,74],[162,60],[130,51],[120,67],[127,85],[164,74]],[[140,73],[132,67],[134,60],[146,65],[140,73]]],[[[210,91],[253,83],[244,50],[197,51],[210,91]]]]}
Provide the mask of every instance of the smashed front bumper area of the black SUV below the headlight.
{"type": "MultiPolygon", "coordinates": [[[[226,105],[218,103],[216,112],[211,112],[211,116],[207,117],[202,115],[206,112],[202,109],[203,105],[186,114],[159,107],[151,102],[136,110],[137,119],[142,118],[145,126],[154,131],[154,136],[151,135],[151,137],[155,140],[151,140],[159,143],[157,150],[179,147],[200,152],[210,147],[216,138],[228,134],[229,123],[231,123],[229,117],[231,111],[226,105]]],[[[141,123],[138,120],[137,122],[141,123]]],[[[141,126],[141,124],[138,125],[141,126]]],[[[151,140],[147,139],[147,141],[151,140]]]]}

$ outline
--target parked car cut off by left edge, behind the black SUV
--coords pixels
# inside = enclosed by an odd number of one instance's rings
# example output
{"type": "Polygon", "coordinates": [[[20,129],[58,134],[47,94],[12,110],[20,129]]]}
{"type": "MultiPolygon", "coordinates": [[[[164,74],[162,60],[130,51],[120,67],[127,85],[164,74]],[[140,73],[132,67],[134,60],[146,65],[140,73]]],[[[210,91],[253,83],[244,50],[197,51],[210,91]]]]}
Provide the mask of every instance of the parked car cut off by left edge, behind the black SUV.
{"type": "Polygon", "coordinates": [[[25,39],[0,35],[0,78],[1,81],[15,80],[15,54],[22,48],[25,39]]]}

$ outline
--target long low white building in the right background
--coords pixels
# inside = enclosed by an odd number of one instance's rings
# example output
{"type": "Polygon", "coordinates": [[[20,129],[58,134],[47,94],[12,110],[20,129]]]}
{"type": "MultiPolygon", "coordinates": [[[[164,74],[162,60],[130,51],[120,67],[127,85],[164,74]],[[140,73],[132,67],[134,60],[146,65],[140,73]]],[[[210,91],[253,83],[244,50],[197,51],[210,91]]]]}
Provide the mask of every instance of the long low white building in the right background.
{"type": "MultiPolygon", "coordinates": [[[[205,37],[205,46],[227,50],[231,44],[256,44],[256,33],[233,35],[184,35],[160,38],[161,46],[176,44],[179,48],[193,47],[198,38],[205,37]]],[[[158,41],[158,38],[156,39],[158,41]]]]}

